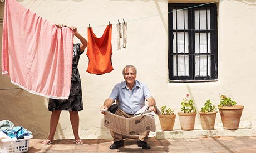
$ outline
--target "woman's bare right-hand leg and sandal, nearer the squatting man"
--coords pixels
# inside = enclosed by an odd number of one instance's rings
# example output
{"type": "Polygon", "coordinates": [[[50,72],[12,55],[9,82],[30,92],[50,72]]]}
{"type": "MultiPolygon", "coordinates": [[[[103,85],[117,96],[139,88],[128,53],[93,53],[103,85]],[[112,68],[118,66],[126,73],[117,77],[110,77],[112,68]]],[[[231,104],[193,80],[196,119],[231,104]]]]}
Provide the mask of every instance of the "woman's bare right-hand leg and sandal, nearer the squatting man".
{"type": "MultiPolygon", "coordinates": [[[[78,111],[69,111],[69,112],[70,112],[70,122],[71,122],[71,125],[72,125],[75,141],[76,140],[80,140],[79,132],[78,132],[78,130],[79,130],[79,115],[78,115],[78,111]]],[[[77,143],[81,144],[82,141],[80,141],[80,142],[77,141],[77,143]]]]}

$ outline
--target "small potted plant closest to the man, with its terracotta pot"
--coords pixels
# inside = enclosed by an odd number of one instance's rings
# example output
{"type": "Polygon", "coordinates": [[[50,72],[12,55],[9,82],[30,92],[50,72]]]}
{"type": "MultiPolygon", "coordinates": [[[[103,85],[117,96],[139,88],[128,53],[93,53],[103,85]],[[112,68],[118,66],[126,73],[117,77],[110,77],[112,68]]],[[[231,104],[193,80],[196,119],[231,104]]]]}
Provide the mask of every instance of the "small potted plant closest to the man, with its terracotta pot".
{"type": "Polygon", "coordinates": [[[161,129],[163,131],[173,130],[176,114],[174,114],[174,108],[167,108],[167,106],[161,107],[161,114],[158,115],[161,129]]]}

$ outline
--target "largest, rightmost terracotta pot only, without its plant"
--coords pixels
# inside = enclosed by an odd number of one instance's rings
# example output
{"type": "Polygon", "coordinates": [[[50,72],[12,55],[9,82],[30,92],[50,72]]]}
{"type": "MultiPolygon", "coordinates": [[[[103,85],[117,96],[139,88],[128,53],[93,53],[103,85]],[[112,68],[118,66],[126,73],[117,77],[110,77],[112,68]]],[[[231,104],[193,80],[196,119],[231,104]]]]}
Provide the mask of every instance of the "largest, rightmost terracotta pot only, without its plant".
{"type": "Polygon", "coordinates": [[[218,107],[224,129],[238,129],[244,106],[223,106],[218,107]]]}

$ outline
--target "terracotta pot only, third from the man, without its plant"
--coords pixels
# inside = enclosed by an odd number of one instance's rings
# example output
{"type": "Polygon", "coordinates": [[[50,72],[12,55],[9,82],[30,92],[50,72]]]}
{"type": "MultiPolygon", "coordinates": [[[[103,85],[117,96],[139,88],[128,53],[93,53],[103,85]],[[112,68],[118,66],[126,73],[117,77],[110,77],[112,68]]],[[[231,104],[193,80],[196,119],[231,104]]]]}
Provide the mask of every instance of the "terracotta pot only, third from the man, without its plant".
{"type": "Polygon", "coordinates": [[[208,112],[208,113],[199,111],[201,125],[202,125],[203,130],[213,130],[214,129],[216,113],[217,113],[217,111],[208,112]]]}

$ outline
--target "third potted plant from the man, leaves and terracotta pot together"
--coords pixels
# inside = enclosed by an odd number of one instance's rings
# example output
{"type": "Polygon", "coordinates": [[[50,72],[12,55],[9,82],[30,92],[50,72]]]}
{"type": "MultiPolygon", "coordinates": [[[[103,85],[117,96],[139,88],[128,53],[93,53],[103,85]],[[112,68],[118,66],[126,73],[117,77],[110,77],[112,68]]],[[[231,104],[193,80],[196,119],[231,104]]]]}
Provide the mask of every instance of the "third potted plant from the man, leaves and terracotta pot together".
{"type": "Polygon", "coordinates": [[[203,130],[213,130],[216,119],[216,106],[211,103],[210,99],[204,103],[204,106],[199,111],[201,125],[203,130]]]}

